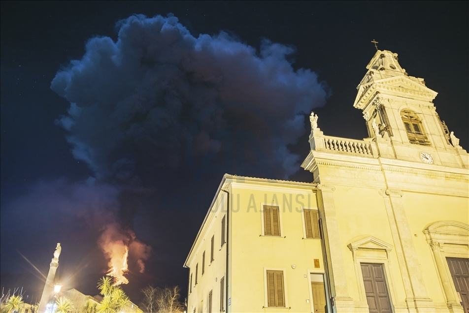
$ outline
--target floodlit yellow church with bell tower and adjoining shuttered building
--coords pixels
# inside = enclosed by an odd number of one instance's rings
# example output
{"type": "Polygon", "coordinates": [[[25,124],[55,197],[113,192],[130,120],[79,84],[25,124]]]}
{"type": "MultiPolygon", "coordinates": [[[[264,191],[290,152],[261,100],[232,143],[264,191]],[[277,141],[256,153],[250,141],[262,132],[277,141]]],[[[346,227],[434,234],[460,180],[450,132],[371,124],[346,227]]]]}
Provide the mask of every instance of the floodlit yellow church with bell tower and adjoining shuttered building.
{"type": "Polygon", "coordinates": [[[184,263],[188,312],[469,312],[469,155],[396,53],[367,69],[369,138],[311,113],[311,183],[224,175],[184,263]]]}

